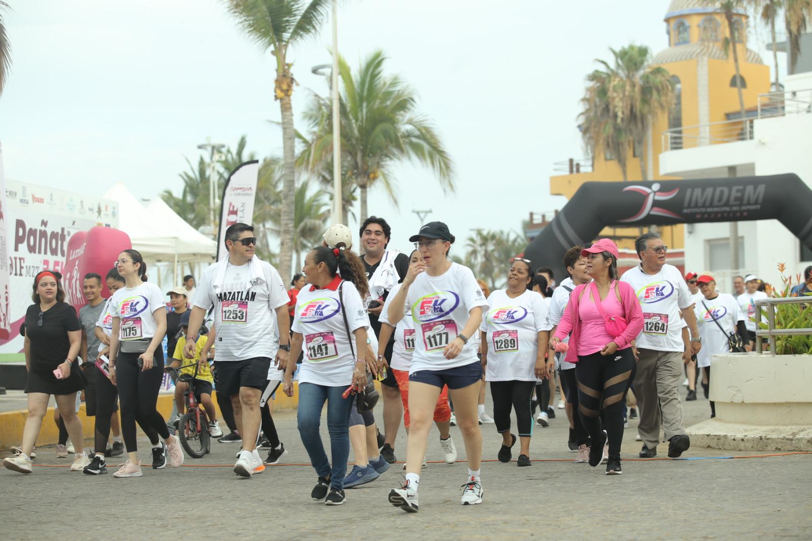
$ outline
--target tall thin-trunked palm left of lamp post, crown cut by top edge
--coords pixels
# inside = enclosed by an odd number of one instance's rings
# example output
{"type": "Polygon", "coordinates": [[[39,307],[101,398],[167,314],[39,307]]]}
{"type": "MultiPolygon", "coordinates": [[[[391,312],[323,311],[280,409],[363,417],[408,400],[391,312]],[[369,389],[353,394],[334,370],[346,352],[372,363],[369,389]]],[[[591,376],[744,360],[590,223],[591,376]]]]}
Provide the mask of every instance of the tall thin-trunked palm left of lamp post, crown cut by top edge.
{"type": "Polygon", "coordinates": [[[291,276],[293,250],[294,204],[296,199],[296,132],[293,128],[291,96],[296,80],[287,53],[291,45],[313,37],[330,11],[330,0],[223,0],[227,11],[237,19],[245,34],[270,50],[276,58],[274,99],[282,112],[283,189],[279,274],[291,276]]]}

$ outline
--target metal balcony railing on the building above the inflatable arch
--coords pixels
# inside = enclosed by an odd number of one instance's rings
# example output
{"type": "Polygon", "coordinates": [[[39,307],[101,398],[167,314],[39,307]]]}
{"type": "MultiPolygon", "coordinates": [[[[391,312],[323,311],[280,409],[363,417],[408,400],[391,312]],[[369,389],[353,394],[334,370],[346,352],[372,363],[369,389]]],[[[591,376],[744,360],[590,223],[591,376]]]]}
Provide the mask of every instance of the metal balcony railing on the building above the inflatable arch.
{"type": "MultiPolygon", "coordinates": [[[[745,111],[747,113],[747,111],[745,111]]],[[[812,89],[758,95],[758,106],[745,119],[723,120],[663,132],[663,150],[689,149],[753,139],[754,119],[812,113],[812,89]]]]}

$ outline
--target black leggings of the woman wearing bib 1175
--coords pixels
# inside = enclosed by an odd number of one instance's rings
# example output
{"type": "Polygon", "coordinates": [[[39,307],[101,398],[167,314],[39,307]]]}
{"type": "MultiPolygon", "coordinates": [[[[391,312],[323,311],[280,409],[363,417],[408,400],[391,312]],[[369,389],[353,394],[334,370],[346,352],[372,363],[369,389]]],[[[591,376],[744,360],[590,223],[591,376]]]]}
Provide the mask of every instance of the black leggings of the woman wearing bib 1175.
{"type": "MultiPolygon", "coordinates": [[[[163,352],[160,348],[153,355],[153,367],[141,371],[138,368],[139,353],[119,353],[115,363],[115,380],[119,387],[121,399],[121,433],[124,436],[124,445],[127,452],[136,452],[136,421],[142,427],[152,428],[163,439],[169,438],[169,428],[166,426],[161,413],[158,413],[158,391],[163,380],[163,352]]],[[[98,407],[98,406],[97,406],[98,407]]],[[[110,415],[106,417],[110,422],[110,415]]],[[[149,432],[147,432],[149,435],[149,432]]],[[[149,438],[150,440],[152,437],[149,438]]],[[[157,444],[157,441],[153,441],[157,444]]]]}

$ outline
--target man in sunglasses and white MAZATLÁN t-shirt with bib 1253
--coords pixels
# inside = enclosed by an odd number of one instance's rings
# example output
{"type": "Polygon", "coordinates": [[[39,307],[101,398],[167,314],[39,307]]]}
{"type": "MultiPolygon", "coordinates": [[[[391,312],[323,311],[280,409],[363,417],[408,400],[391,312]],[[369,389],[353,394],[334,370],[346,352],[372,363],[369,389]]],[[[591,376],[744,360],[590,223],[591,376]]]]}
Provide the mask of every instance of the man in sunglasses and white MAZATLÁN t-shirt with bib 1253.
{"type": "Polygon", "coordinates": [[[243,450],[234,473],[251,477],[265,470],[257,452],[259,401],[270,363],[284,370],[290,351],[287,291],[279,272],[254,253],[257,237],[247,223],[226,230],[228,257],[209,266],[192,299],[184,356],[194,357],[197,333],[214,309],[218,392],[231,396],[243,450]]]}

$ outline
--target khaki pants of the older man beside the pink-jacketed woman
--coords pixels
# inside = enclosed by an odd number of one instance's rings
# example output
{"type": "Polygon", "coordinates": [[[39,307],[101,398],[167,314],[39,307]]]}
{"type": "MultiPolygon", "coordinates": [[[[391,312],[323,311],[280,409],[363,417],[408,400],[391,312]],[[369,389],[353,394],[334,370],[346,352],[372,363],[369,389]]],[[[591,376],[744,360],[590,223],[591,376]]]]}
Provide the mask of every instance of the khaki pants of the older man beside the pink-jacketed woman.
{"type": "Polygon", "coordinates": [[[660,423],[665,431],[665,441],[675,435],[685,434],[682,425],[682,402],[680,379],[682,353],[639,349],[637,373],[634,376],[634,393],[640,409],[637,431],[647,448],[659,444],[660,423]]]}

